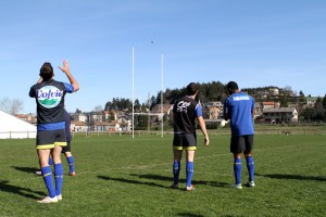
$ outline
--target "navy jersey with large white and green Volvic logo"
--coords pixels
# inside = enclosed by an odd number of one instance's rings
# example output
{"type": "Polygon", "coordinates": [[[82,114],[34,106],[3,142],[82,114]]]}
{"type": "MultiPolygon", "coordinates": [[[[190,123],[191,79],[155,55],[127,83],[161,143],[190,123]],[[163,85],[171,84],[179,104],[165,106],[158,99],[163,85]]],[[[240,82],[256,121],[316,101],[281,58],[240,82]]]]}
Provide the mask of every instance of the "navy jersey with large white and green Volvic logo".
{"type": "Polygon", "coordinates": [[[37,129],[64,129],[64,95],[74,92],[70,84],[47,80],[30,87],[29,97],[35,98],[37,104],[37,129]]]}

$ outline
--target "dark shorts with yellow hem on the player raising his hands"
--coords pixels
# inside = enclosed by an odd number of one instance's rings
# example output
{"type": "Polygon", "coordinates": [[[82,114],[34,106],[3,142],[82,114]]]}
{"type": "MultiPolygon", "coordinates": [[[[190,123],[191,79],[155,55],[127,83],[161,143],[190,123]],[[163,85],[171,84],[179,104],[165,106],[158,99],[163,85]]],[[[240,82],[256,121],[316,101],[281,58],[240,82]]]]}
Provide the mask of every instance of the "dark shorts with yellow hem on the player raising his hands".
{"type": "Polygon", "coordinates": [[[66,145],[64,129],[37,131],[36,149],[54,149],[55,145],[66,145]]]}

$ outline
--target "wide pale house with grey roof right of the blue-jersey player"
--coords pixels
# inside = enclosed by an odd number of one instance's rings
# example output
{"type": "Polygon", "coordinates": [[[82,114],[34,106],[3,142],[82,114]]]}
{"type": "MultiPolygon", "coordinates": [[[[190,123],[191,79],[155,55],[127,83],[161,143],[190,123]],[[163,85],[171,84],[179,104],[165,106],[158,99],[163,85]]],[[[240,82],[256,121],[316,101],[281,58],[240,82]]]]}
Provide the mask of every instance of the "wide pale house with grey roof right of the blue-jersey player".
{"type": "Polygon", "coordinates": [[[298,112],[294,107],[265,108],[263,118],[271,124],[298,123],[298,112]]]}

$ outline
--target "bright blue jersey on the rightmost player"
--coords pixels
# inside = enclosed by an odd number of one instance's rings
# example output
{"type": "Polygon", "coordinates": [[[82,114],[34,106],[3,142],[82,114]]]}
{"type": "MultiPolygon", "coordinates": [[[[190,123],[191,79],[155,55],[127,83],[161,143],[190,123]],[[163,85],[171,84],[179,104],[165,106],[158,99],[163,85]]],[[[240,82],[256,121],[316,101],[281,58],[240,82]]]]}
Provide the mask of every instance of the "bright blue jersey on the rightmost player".
{"type": "Polygon", "coordinates": [[[223,116],[229,117],[231,136],[253,135],[252,113],[254,101],[252,97],[236,92],[225,100],[223,116]]]}

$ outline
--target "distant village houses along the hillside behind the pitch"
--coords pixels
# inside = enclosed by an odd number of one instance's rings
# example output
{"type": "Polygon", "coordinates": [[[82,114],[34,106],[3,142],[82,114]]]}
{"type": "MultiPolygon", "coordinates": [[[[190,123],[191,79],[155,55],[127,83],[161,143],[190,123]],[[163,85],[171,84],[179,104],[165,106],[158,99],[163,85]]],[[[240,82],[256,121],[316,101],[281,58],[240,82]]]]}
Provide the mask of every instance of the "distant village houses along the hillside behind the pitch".
{"type": "MultiPolygon", "coordinates": [[[[278,99],[281,97],[277,88],[258,91],[255,95],[255,123],[261,124],[294,124],[299,123],[299,110],[313,107],[317,98],[305,97],[300,103],[289,103],[287,107],[281,107],[278,99]]],[[[293,92],[288,97],[294,98],[293,92]]],[[[164,126],[172,124],[171,113],[172,104],[156,104],[145,113],[134,113],[135,129],[139,127],[142,116],[145,124],[149,127],[159,127],[162,122],[164,126]],[[162,107],[163,106],[163,107],[162,107]],[[138,118],[136,118],[138,117],[138,118]]],[[[203,117],[208,125],[217,126],[222,122],[223,102],[202,103],[203,117]]],[[[75,132],[83,131],[130,131],[133,128],[133,111],[97,111],[97,112],[78,112],[71,113],[72,130],[75,132]]],[[[36,117],[32,114],[16,115],[20,119],[36,125],[36,117]]],[[[172,126],[172,125],[171,125],[172,126]]]]}

